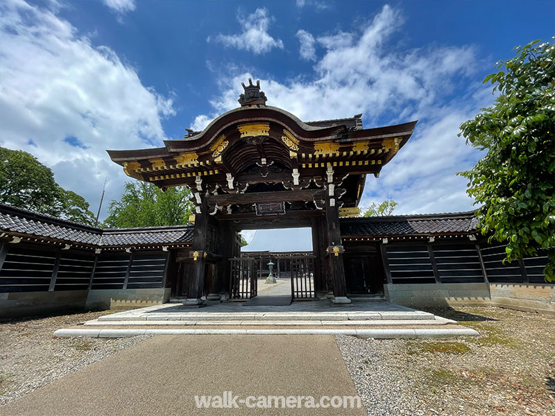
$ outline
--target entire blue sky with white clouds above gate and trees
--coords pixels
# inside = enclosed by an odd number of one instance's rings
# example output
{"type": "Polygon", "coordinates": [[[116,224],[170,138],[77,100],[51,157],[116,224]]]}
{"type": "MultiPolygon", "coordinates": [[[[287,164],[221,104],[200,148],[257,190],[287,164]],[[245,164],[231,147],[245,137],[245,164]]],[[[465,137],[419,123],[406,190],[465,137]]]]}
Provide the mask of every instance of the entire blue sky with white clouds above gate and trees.
{"type": "Polygon", "coordinates": [[[0,145],[33,153],[96,211],[105,177],[108,200],[130,180],[105,149],[203,128],[237,107],[251,76],[268,105],[305,121],[420,120],[379,179],[368,177],[361,205],[468,210],[455,173],[480,154],[459,125],[492,103],[481,80],[495,62],[550,40],[554,15],[552,1],[6,0],[0,145]]]}

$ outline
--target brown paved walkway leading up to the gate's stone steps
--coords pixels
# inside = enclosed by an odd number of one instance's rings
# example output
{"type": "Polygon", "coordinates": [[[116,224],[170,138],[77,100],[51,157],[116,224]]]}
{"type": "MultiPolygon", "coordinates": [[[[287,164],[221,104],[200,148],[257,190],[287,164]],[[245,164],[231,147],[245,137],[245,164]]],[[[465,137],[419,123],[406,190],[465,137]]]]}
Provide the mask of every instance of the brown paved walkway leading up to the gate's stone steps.
{"type": "Polygon", "coordinates": [[[198,409],[195,395],[355,396],[332,336],[154,336],[0,407],[10,416],[366,415],[364,408],[198,409]]]}

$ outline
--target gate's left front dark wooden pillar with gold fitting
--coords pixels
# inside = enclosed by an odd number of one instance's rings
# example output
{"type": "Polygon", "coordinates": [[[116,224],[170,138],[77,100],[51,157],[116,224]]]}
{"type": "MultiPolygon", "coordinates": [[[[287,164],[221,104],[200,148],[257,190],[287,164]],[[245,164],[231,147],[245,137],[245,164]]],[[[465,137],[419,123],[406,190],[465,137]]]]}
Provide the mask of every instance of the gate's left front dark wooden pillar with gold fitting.
{"type": "Polygon", "coordinates": [[[204,301],[201,299],[204,295],[204,275],[206,261],[204,253],[206,250],[206,232],[208,227],[208,208],[205,196],[202,196],[200,203],[200,212],[195,214],[195,229],[193,234],[193,246],[190,253],[191,261],[191,277],[189,279],[189,293],[187,300],[183,301],[185,305],[199,305],[204,301]]]}

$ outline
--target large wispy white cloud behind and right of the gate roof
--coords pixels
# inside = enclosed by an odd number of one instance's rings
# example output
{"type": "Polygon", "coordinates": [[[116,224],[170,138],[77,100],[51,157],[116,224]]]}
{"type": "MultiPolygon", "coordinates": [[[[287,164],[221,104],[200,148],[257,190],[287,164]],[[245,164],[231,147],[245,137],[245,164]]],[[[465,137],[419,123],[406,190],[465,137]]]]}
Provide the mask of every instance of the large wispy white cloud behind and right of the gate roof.
{"type": "MultiPolygon", "coordinates": [[[[425,46],[403,50],[391,44],[402,27],[402,16],[390,6],[361,33],[338,31],[316,37],[325,55],[307,74],[284,82],[261,79],[268,105],[282,107],[302,120],[336,119],[362,112],[365,128],[420,119],[415,134],[379,179],[368,177],[361,205],[393,198],[396,213],[472,209],[466,179],[457,171],[472,166],[480,154],[457,137],[459,124],[474,116],[492,97],[472,77],[477,67],[472,46],[425,46]],[[468,92],[450,98],[458,87],[468,92]]],[[[311,35],[311,34],[309,34],[311,35]]],[[[314,35],[313,35],[314,37],[314,35]]],[[[222,94],[214,99],[210,121],[237,107],[241,81],[257,79],[252,71],[220,80],[222,94]]]]}

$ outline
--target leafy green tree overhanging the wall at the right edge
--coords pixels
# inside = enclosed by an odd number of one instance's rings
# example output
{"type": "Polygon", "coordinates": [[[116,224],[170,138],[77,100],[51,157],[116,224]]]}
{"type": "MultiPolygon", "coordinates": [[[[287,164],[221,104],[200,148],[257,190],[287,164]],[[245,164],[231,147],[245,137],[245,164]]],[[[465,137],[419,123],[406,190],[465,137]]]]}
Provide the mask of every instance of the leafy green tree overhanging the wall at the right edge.
{"type": "MultiPolygon", "coordinates": [[[[555,39],[555,37],[554,37],[555,39]]],[[[461,125],[467,144],[487,150],[467,177],[481,232],[506,243],[512,261],[547,252],[544,269],[555,280],[555,45],[531,42],[497,63],[499,96],[461,125]]]]}

